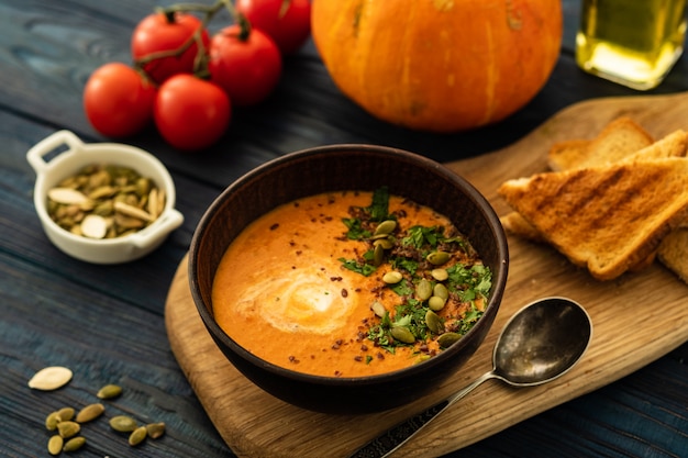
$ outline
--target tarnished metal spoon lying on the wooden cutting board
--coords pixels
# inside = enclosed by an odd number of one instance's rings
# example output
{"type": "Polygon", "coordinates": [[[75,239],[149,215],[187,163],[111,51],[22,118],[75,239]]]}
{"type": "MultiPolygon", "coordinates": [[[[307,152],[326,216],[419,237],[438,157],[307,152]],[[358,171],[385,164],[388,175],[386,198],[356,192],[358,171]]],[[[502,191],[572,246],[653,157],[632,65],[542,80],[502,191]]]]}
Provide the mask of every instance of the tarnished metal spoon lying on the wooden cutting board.
{"type": "Polygon", "coordinates": [[[566,373],[588,348],[590,316],[577,302],[545,298],[518,311],[492,353],[492,370],[468,387],[382,433],[349,458],[385,458],[400,448],[450,405],[488,379],[513,387],[534,387],[566,373]]]}

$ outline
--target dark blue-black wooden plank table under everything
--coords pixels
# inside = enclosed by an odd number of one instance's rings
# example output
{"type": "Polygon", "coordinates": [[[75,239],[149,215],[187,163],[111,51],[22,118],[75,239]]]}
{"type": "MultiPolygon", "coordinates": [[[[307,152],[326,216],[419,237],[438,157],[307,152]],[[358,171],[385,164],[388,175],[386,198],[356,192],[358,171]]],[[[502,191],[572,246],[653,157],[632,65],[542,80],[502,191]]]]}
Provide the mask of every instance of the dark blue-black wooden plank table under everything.
{"type": "MultiPolygon", "coordinates": [[[[321,0],[322,1],[322,0],[321,0]]],[[[330,1],[330,0],[324,0],[330,1]]],[[[154,153],[177,185],[182,227],[152,255],[96,266],[57,250],[32,204],[35,175],[26,150],[62,129],[85,142],[106,141],[81,109],[86,79],[98,66],[130,62],[129,38],[154,0],[0,0],[0,455],[48,456],[45,416],[95,401],[104,383],[124,394],[108,413],[165,422],[167,435],[132,449],[104,422],[89,426],[84,457],[231,457],[170,351],[164,324],[173,275],[202,212],[234,179],[279,155],[331,143],[401,147],[440,161],[501,148],[580,100],[641,93],[578,70],[573,44],[579,1],[565,0],[561,59],[543,91],[509,120],[475,132],[432,135],[371,119],[345,99],[312,43],[286,63],[274,97],[235,113],[223,141],[201,154],[167,147],[154,132],[127,142],[154,153]],[[56,392],[30,390],[46,366],[74,370],[56,392]]],[[[688,90],[688,57],[650,93],[688,90]]],[[[662,292],[647,298],[662,306],[662,292]]],[[[687,304],[688,306],[688,304],[687,304]]],[[[639,315],[639,326],[643,316],[639,315]]],[[[688,345],[603,389],[576,399],[456,457],[686,457],[688,345]]],[[[335,434],[335,432],[333,432],[335,434]]],[[[323,450],[323,457],[328,450],[323,450]]]]}

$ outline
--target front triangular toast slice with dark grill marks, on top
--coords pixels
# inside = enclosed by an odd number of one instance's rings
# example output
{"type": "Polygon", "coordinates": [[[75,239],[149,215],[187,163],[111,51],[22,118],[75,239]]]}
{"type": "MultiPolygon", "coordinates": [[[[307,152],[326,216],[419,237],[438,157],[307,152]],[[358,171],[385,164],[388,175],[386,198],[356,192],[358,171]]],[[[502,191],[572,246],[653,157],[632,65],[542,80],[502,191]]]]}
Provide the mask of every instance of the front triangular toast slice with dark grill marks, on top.
{"type": "Polygon", "coordinates": [[[611,280],[688,216],[688,159],[620,163],[509,180],[499,193],[573,264],[611,280]]]}

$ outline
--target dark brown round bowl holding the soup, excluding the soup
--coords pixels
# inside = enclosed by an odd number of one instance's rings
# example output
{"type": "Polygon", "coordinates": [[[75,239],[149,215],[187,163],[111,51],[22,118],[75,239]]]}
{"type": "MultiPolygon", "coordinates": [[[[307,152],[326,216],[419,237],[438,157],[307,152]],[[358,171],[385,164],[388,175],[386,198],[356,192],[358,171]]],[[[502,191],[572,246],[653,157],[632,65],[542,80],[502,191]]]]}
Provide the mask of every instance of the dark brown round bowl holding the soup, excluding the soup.
{"type": "Polygon", "coordinates": [[[507,239],[488,201],[442,165],[400,149],[369,145],[315,147],[282,156],[228,187],[203,214],[191,241],[191,294],[210,335],[255,384],[291,404],[328,413],[365,413],[407,404],[428,393],[476,351],[495,321],[507,283],[507,239]],[[237,345],[213,319],[211,289],[230,243],[252,221],[282,203],[328,191],[388,186],[448,216],[492,270],[492,291],[478,323],[456,344],[420,365],[390,373],[334,378],[295,372],[237,345]]]}

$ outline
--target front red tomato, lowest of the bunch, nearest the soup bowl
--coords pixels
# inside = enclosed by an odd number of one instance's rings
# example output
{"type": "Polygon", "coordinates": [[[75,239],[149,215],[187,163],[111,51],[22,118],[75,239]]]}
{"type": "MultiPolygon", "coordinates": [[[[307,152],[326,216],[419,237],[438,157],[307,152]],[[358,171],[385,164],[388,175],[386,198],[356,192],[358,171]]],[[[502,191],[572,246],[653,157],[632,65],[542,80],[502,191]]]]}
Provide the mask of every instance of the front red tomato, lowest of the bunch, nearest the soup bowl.
{"type": "Polygon", "coordinates": [[[159,88],[153,118],[160,135],[178,149],[207,148],[230,124],[230,98],[215,83],[193,75],[175,75],[159,88]]]}

